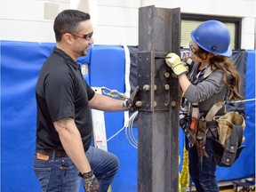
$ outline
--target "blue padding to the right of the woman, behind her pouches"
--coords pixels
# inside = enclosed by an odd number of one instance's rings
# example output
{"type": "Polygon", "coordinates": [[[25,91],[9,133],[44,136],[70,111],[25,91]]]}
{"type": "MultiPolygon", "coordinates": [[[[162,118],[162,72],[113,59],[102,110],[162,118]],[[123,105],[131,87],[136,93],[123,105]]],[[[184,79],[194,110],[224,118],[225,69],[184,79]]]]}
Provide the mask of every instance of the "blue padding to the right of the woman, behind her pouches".
{"type": "Polygon", "coordinates": [[[218,167],[218,180],[236,180],[244,177],[255,176],[255,51],[247,51],[245,74],[245,124],[244,130],[246,146],[241,157],[232,167],[218,167]]]}

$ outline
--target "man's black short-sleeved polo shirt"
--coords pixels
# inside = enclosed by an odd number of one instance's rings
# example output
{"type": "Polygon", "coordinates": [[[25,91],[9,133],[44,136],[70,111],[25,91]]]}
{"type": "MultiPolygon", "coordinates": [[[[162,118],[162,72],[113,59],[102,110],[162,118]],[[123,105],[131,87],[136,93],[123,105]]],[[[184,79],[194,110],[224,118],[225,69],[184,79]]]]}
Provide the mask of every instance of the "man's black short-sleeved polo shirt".
{"type": "Polygon", "coordinates": [[[79,65],[54,47],[44,62],[36,84],[36,149],[62,149],[53,122],[72,117],[81,134],[84,150],[92,140],[92,118],[88,105],[95,92],[84,81],[79,65]]]}

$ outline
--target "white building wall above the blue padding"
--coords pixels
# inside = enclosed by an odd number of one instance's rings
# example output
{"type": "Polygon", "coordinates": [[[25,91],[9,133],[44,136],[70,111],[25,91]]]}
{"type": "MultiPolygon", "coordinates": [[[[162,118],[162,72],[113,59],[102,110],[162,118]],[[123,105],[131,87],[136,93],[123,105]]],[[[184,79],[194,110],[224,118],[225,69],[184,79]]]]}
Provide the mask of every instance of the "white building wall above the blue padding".
{"type": "Polygon", "coordinates": [[[138,44],[140,6],[242,18],[242,49],[255,49],[256,0],[1,0],[1,40],[55,42],[52,24],[64,9],[92,15],[95,44],[138,44]]]}

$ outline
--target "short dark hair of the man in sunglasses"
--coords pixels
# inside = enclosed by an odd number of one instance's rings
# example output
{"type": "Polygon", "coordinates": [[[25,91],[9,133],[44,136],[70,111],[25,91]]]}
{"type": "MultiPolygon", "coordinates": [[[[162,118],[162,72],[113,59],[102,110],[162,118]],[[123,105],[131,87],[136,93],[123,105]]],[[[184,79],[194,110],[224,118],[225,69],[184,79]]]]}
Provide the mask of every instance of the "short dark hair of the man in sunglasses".
{"type": "Polygon", "coordinates": [[[89,13],[80,12],[78,10],[64,10],[60,12],[53,24],[56,42],[60,42],[64,33],[76,33],[79,23],[90,19],[91,16],[89,13]]]}

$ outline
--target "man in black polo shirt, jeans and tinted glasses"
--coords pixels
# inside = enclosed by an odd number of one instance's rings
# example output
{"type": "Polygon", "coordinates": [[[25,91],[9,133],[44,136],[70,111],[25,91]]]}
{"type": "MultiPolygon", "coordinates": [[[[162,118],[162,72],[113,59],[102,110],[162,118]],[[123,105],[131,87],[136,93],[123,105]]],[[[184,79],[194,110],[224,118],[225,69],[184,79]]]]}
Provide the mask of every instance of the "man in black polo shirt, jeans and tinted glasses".
{"type": "Polygon", "coordinates": [[[139,89],[123,102],[98,94],[86,84],[76,60],[93,44],[88,13],[60,12],[53,28],[57,44],[36,84],[36,177],[42,191],[76,192],[80,188],[78,173],[86,192],[107,191],[119,163],[113,154],[90,147],[90,108],[134,110],[132,97],[139,89]]]}

